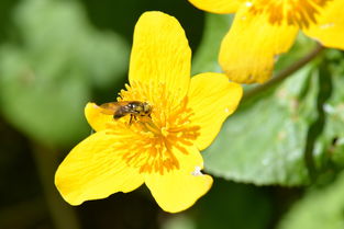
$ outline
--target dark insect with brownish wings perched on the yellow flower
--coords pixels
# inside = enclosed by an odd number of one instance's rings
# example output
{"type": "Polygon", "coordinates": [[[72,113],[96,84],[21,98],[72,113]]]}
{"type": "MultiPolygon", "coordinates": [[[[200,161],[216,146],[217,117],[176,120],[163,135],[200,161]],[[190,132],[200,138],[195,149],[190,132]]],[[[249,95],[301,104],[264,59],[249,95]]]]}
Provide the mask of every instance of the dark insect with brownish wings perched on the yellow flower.
{"type": "Polygon", "coordinates": [[[152,106],[147,102],[141,101],[119,101],[103,103],[100,105],[101,113],[113,115],[114,119],[119,119],[126,115],[130,115],[129,123],[132,123],[132,119],[137,116],[148,116],[151,117],[152,106]]]}

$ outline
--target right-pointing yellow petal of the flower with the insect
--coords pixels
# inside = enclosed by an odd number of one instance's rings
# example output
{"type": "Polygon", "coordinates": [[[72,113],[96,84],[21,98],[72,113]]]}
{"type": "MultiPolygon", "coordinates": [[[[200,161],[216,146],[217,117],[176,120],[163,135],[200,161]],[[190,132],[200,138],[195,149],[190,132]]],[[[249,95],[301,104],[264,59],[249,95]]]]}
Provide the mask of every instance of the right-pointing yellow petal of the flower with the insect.
{"type": "Polygon", "coordinates": [[[222,73],[201,73],[191,79],[188,98],[195,112],[191,122],[200,126],[199,150],[213,141],[225,118],[236,110],[242,95],[242,87],[230,82],[222,73]]]}

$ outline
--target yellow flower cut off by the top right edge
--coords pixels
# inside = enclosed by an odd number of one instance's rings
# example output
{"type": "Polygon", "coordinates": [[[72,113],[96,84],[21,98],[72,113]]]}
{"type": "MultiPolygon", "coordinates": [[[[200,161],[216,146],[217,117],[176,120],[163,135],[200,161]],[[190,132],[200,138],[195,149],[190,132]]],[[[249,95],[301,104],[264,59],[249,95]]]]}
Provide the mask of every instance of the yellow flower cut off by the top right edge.
{"type": "Polygon", "coordinates": [[[343,0],[189,0],[212,13],[234,13],[219,61],[231,80],[265,82],[276,55],[287,51],[299,30],[323,46],[344,49],[343,0]]]}

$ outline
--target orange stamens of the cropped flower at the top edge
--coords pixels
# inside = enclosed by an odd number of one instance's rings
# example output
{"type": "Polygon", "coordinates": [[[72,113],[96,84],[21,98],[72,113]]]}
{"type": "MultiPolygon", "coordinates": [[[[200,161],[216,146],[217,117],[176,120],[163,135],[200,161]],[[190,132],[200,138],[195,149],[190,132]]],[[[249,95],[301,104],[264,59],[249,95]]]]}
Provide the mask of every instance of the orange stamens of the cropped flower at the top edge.
{"type": "Polygon", "coordinates": [[[298,25],[301,28],[317,23],[317,15],[332,0],[256,0],[246,1],[253,14],[266,13],[271,24],[298,25]]]}

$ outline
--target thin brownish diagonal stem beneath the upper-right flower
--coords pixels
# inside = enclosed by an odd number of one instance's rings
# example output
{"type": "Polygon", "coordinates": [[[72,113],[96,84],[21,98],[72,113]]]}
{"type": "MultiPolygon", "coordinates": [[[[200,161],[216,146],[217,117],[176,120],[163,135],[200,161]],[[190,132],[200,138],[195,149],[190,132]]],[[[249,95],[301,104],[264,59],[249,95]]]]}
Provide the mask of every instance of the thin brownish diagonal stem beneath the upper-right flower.
{"type": "Polygon", "coordinates": [[[248,90],[245,92],[243,100],[247,100],[263,91],[266,91],[268,88],[271,88],[276,85],[277,83],[284,81],[287,79],[289,76],[291,76],[293,72],[302,68],[306,64],[314,59],[318,54],[320,54],[321,50],[323,50],[324,47],[317,43],[317,46],[308,53],[306,56],[303,56],[301,59],[299,59],[297,62],[291,64],[289,67],[285,68],[284,70],[279,71],[276,73],[275,77],[273,77],[269,81],[267,81],[264,84],[257,85],[254,89],[248,90]]]}

